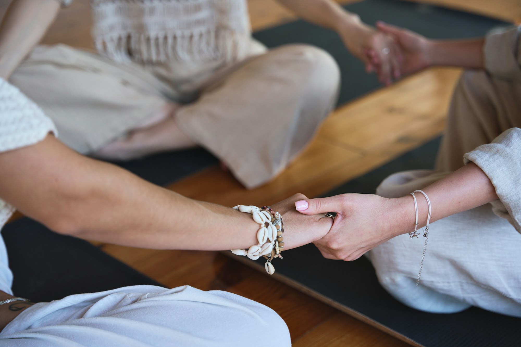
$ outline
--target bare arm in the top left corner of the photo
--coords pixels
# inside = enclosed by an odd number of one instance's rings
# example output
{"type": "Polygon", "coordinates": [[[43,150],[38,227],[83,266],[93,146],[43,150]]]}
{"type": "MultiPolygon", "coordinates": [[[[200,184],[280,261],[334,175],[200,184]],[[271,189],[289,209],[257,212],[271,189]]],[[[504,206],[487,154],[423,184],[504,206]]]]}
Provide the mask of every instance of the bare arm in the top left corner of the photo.
{"type": "Polygon", "coordinates": [[[57,0],[14,0],[0,24],[0,77],[8,79],[40,42],[60,9],[57,0]]]}

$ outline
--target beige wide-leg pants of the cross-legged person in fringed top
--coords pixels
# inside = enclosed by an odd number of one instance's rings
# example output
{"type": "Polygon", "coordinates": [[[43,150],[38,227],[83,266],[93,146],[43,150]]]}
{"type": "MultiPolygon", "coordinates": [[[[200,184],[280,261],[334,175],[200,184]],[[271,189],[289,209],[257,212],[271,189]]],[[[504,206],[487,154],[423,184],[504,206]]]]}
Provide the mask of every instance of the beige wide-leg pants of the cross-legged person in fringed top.
{"type": "Polygon", "coordinates": [[[83,154],[125,137],[167,103],[183,103],[181,130],[253,188],[313,138],[336,102],[340,76],[333,58],[312,46],[264,51],[257,43],[232,65],[118,65],[65,45],[39,46],[10,81],[83,154]]]}

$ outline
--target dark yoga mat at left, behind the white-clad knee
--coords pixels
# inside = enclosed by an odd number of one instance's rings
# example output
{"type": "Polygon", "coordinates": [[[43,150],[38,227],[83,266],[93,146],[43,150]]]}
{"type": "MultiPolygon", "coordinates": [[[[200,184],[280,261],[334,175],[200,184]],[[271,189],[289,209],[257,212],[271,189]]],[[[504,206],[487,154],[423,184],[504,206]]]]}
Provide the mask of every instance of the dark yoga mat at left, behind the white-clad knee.
{"type": "Polygon", "coordinates": [[[160,283],[106,254],[91,243],[52,232],[29,218],[2,229],[13,292],[33,302],[120,287],[160,283]]]}

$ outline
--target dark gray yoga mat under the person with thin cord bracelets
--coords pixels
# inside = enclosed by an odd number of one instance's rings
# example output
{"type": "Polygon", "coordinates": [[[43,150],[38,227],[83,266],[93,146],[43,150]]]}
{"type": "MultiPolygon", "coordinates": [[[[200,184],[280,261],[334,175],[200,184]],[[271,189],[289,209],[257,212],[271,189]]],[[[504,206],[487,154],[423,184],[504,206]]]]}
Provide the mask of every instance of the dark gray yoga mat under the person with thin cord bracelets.
{"type": "MultiPolygon", "coordinates": [[[[394,172],[431,169],[439,141],[432,140],[324,196],[375,193],[378,184],[394,172]]],[[[226,254],[230,255],[230,252],[226,254]]],[[[265,272],[262,258],[251,261],[246,257],[233,257],[265,272]]],[[[287,251],[284,259],[274,265],[274,276],[282,282],[413,345],[521,346],[521,318],[476,307],[455,314],[416,311],[396,301],[380,286],[373,266],[365,257],[354,262],[332,261],[323,258],[314,245],[306,245],[287,251]]]]}

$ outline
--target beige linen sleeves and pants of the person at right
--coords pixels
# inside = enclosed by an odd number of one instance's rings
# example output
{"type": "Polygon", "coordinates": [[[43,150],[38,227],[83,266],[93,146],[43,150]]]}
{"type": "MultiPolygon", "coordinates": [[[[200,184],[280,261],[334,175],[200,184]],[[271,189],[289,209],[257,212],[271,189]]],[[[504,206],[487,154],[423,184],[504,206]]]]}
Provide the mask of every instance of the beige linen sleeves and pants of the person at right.
{"type": "MultiPolygon", "coordinates": [[[[452,98],[437,170],[399,172],[377,194],[399,197],[472,161],[499,200],[433,222],[419,287],[423,238],[407,234],[370,251],[380,283],[404,304],[434,313],[470,306],[521,317],[521,69],[517,29],[489,36],[486,71],[466,71],[452,98]],[[516,60],[517,59],[517,60],[516,60]]],[[[418,203],[426,203],[418,196],[418,203]]],[[[411,213],[414,206],[411,200],[411,213]]],[[[425,217],[424,217],[425,218],[425,217]]]]}

